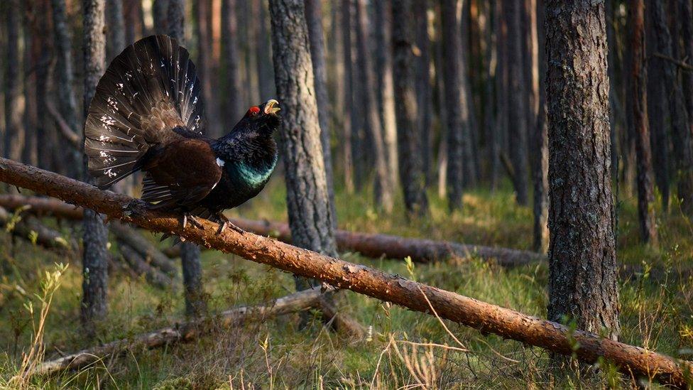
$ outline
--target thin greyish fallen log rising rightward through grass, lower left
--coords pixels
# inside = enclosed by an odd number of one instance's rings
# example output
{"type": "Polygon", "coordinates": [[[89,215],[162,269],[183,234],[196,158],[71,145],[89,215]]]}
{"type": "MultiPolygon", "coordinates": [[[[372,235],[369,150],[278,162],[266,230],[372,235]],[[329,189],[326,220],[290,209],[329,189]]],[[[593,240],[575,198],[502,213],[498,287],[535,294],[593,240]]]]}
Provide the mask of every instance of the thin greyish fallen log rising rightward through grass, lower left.
{"type": "Polygon", "coordinates": [[[172,345],[176,342],[195,340],[209,332],[210,323],[219,327],[229,328],[247,320],[268,318],[271,316],[295,313],[320,304],[322,293],[320,288],[293,293],[271,301],[264,305],[240,306],[224,311],[216,317],[202,318],[188,323],[175,324],[153,332],[135,335],[123,340],[109,342],[99,347],[89,348],[74,354],[68,354],[55,360],[39,364],[29,375],[48,375],[66,369],[78,369],[102,361],[111,354],[119,354],[136,348],[153,349],[172,345]]]}

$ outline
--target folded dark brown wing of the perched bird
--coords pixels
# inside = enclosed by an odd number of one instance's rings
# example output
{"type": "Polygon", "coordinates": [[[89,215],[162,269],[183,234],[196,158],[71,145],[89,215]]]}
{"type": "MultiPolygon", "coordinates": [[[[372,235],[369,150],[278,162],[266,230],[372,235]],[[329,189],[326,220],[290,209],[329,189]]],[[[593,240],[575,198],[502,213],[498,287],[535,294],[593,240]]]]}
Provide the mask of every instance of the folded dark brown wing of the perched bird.
{"type": "Polygon", "coordinates": [[[222,178],[217,156],[202,139],[168,143],[145,166],[142,200],[157,208],[193,205],[202,200],[222,178]]]}

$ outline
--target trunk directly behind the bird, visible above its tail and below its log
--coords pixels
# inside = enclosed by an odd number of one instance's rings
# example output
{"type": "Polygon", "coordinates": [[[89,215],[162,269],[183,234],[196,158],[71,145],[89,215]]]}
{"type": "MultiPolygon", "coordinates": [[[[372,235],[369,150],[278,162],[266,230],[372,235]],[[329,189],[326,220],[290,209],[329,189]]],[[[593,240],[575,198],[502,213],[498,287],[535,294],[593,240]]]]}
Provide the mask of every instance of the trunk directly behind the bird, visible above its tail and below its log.
{"type": "MultiPolygon", "coordinates": [[[[180,45],[185,46],[185,0],[169,0],[166,18],[168,35],[178,40],[180,45]]],[[[191,242],[181,242],[180,265],[183,273],[185,315],[200,317],[207,313],[207,295],[202,286],[200,247],[191,242]]]]}

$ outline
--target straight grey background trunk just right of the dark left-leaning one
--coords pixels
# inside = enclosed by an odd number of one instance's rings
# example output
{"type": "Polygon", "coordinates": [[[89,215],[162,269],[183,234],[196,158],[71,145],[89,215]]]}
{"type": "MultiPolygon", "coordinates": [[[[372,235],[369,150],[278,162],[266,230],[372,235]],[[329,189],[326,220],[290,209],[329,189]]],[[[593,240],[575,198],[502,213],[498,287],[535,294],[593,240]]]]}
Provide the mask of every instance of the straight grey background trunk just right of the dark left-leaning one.
{"type": "Polygon", "coordinates": [[[464,164],[469,163],[465,156],[465,142],[469,142],[469,106],[466,94],[462,91],[464,65],[459,60],[462,42],[459,34],[459,0],[444,0],[440,6],[442,42],[442,71],[446,133],[447,133],[447,202],[450,210],[462,208],[462,188],[464,164]]]}

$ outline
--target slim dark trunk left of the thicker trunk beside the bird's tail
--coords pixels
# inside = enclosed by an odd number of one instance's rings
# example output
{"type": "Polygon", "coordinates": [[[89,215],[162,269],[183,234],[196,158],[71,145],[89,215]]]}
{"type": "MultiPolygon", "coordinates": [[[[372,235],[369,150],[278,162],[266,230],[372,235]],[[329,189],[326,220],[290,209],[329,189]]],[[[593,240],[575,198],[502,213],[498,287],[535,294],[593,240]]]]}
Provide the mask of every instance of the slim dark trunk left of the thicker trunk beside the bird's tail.
{"type": "MultiPolygon", "coordinates": [[[[67,14],[65,11],[65,0],[52,0],[53,9],[53,39],[55,47],[55,93],[58,98],[58,112],[65,119],[70,129],[77,131],[80,123],[77,119],[77,99],[72,90],[72,34],[70,26],[67,25],[67,14]]],[[[82,157],[79,151],[73,148],[65,140],[60,141],[60,148],[65,151],[63,158],[67,166],[67,175],[71,178],[78,178],[82,174],[82,157]]]]}

